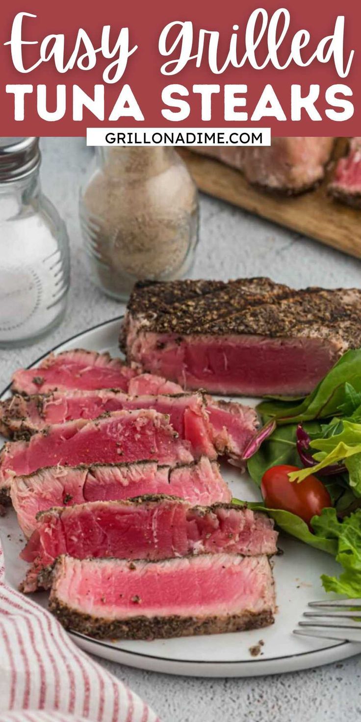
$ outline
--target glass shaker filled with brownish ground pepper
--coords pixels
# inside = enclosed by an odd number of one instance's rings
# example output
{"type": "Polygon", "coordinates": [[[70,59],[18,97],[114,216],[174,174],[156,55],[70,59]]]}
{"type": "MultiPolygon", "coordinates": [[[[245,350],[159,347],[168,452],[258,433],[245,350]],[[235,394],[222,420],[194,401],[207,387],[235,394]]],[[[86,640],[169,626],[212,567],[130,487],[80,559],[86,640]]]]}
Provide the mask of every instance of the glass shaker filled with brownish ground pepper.
{"type": "Polygon", "coordinates": [[[97,148],[79,212],[90,276],[108,295],[191,268],[198,193],[173,147],[97,148]]]}

